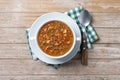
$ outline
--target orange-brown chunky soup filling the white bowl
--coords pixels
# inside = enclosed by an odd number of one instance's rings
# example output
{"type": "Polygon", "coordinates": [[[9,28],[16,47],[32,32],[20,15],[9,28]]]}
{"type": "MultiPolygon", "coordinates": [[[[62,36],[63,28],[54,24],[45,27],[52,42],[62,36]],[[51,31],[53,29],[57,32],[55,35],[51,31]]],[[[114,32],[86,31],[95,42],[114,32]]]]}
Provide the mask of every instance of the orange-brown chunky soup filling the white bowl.
{"type": "Polygon", "coordinates": [[[50,56],[61,56],[70,50],[73,44],[73,33],[63,22],[50,21],[38,32],[38,45],[50,56]]]}

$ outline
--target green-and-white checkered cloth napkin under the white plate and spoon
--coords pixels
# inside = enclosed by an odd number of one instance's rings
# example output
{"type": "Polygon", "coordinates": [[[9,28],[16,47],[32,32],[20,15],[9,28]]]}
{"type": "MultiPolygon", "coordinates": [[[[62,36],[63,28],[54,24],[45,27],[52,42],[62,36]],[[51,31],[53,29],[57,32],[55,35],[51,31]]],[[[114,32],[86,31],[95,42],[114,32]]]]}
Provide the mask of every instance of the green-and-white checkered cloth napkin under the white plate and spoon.
{"type": "MultiPolygon", "coordinates": [[[[95,30],[93,29],[93,26],[91,24],[89,24],[86,29],[80,24],[79,22],[79,15],[81,13],[81,11],[83,10],[83,8],[81,6],[76,7],[72,10],[69,10],[68,12],[65,12],[66,15],[70,16],[73,20],[76,21],[77,25],[79,26],[79,29],[81,31],[81,33],[87,33],[86,37],[87,37],[87,48],[90,49],[92,48],[91,43],[93,43],[94,41],[98,40],[98,36],[95,32],[95,30]]],[[[26,29],[26,36],[27,36],[27,40],[29,40],[29,31],[30,28],[26,29]]],[[[28,45],[29,45],[29,41],[28,41],[28,45]]],[[[33,53],[30,45],[29,45],[29,50],[31,53],[31,56],[33,57],[34,60],[37,59],[37,56],[33,53]]],[[[50,65],[50,64],[49,64],[50,65]]],[[[58,65],[52,65],[54,68],[58,68],[60,64],[58,65]]]]}

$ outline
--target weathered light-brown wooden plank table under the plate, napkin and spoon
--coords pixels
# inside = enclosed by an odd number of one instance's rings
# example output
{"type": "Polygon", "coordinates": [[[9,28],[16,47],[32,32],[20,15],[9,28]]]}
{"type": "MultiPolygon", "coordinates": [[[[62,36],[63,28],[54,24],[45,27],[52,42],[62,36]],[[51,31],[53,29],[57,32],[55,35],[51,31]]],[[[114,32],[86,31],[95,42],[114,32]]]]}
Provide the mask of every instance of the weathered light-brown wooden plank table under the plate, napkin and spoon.
{"type": "Polygon", "coordinates": [[[120,0],[0,0],[0,80],[120,80],[120,0]],[[88,66],[75,57],[58,70],[33,61],[25,29],[47,12],[82,5],[100,40],[88,66]]]}

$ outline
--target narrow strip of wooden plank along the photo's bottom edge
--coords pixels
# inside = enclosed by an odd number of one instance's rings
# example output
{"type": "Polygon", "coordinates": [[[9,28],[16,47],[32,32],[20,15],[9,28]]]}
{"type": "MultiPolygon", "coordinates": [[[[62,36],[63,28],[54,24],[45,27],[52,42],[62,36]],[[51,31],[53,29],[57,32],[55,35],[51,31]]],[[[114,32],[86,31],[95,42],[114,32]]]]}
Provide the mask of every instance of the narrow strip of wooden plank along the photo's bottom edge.
{"type": "Polygon", "coordinates": [[[119,80],[119,75],[25,75],[0,76],[0,80],[119,80]]]}

